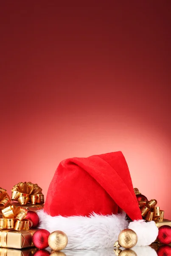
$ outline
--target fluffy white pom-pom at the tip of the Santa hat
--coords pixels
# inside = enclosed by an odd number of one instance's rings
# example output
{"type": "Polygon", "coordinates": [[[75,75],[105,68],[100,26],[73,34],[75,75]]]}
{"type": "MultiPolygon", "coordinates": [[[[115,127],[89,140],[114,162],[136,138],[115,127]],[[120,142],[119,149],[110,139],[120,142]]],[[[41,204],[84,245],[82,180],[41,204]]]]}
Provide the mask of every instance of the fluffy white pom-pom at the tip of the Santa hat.
{"type": "Polygon", "coordinates": [[[132,221],[129,223],[129,228],[134,230],[138,236],[137,246],[150,245],[157,239],[159,232],[154,221],[132,221]]]}

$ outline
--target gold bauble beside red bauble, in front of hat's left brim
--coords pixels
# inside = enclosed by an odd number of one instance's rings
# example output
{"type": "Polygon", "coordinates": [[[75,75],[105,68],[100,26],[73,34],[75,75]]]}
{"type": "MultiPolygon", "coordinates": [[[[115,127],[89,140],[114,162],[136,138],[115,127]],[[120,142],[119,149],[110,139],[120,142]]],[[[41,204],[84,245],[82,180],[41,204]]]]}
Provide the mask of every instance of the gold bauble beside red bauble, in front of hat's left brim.
{"type": "Polygon", "coordinates": [[[67,235],[60,230],[52,232],[48,237],[48,244],[54,251],[63,250],[67,246],[67,243],[67,235]]]}

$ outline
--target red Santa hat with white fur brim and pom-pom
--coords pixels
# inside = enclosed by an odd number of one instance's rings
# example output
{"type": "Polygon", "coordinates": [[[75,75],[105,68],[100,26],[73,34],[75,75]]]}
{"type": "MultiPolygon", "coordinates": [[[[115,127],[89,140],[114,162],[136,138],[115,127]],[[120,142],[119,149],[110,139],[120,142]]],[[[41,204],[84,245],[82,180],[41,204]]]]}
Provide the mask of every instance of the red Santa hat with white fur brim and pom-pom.
{"type": "Polygon", "coordinates": [[[112,247],[119,233],[133,221],[137,245],[156,240],[154,221],[144,222],[121,151],[63,160],[50,183],[45,207],[38,212],[39,228],[62,230],[67,248],[112,247]]]}

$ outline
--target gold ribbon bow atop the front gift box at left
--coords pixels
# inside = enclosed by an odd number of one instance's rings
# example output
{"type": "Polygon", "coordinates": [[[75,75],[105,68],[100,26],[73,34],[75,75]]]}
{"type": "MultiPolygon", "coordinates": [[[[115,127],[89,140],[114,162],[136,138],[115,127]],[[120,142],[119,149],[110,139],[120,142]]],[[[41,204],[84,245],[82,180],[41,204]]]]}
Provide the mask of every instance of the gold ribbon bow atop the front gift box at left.
{"type": "Polygon", "coordinates": [[[29,220],[24,219],[27,209],[14,205],[2,210],[3,218],[0,218],[0,229],[29,230],[29,220]]]}

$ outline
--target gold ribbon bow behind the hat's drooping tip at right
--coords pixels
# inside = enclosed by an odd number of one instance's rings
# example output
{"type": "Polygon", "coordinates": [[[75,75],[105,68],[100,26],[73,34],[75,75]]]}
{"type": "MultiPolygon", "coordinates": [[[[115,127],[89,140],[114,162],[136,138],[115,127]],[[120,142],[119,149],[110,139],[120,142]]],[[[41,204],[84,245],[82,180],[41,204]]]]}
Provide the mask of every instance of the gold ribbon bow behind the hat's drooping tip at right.
{"type": "MultiPolygon", "coordinates": [[[[137,188],[134,189],[135,195],[141,195],[137,188]]],[[[160,210],[160,207],[157,207],[157,201],[155,199],[151,199],[147,201],[146,198],[142,197],[140,201],[138,201],[141,215],[146,221],[163,221],[164,211],[160,210]]]]}

